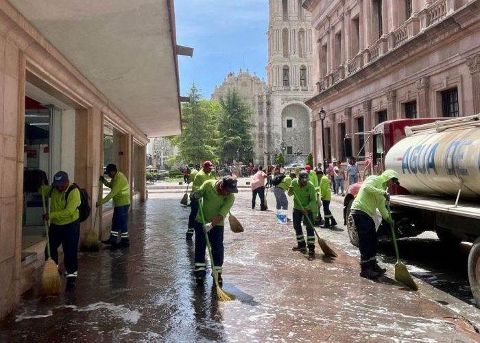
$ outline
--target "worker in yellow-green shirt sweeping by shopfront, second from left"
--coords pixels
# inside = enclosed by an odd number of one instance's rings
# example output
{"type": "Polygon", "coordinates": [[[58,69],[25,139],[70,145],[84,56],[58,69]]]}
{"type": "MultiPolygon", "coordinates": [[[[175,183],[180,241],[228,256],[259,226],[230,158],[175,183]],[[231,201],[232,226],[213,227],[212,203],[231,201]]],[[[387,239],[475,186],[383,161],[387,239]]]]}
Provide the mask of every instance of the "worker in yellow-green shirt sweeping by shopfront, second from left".
{"type": "Polygon", "coordinates": [[[127,177],[117,170],[114,164],[107,165],[105,174],[110,176],[112,180],[108,182],[104,176],[100,176],[100,181],[106,187],[112,190],[107,196],[97,201],[97,206],[103,205],[113,199],[113,217],[112,228],[110,230],[110,238],[101,241],[103,244],[110,244],[112,246],[126,247],[130,246],[130,239],[128,237],[128,209],[130,209],[130,183],[127,177]],[[120,237],[120,243],[119,243],[120,237]]]}

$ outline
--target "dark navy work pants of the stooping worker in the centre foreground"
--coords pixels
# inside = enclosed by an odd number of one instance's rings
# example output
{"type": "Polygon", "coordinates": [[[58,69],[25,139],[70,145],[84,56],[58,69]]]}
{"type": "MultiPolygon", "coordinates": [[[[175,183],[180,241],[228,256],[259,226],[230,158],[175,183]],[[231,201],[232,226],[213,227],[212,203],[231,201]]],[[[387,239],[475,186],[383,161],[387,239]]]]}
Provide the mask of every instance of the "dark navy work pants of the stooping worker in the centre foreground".
{"type": "MultiPolygon", "coordinates": [[[[195,274],[205,275],[206,239],[203,224],[195,221],[193,228],[195,228],[195,274]]],[[[215,265],[215,270],[221,274],[222,265],[224,265],[224,226],[214,226],[208,231],[208,239],[212,247],[213,265],[215,265]]]]}

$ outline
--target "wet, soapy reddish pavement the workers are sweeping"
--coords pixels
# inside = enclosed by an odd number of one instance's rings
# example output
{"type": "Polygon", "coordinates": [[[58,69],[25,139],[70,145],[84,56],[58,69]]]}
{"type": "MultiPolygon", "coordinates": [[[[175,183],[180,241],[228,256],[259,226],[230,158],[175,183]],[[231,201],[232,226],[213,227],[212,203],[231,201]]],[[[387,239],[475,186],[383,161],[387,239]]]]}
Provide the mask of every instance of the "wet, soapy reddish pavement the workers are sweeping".
{"type": "MultiPolygon", "coordinates": [[[[344,227],[320,229],[339,257],[316,248],[315,261],[293,252],[291,223],[250,209],[248,190],[232,213],[245,232],[225,230],[224,289],[219,303],[208,277],[191,274],[194,246],[184,240],[189,207],[182,194],[151,191],[134,211],[130,248],[80,254],[77,288],[60,296],[34,290],[0,324],[1,342],[479,342],[472,316],[419,281],[412,292],[385,277],[361,279],[358,251],[344,227]]],[[[270,208],[274,208],[269,193],[270,208]]],[[[341,206],[333,204],[338,222],[341,206]]],[[[227,221],[228,222],[228,221],[227,221]]],[[[401,249],[401,248],[400,248],[401,249]]],[[[401,251],[401,250],[400,250],[401,251]]],[[[388,257],[385,257],[388,259],[388,257]]],[[[387,274],[393,278],[392,265],[387,274]]],[[[441,292],[440,292],[441,293],[441,292]]],[[[480,321],[480,320],[479,320],[480,321]]]]}

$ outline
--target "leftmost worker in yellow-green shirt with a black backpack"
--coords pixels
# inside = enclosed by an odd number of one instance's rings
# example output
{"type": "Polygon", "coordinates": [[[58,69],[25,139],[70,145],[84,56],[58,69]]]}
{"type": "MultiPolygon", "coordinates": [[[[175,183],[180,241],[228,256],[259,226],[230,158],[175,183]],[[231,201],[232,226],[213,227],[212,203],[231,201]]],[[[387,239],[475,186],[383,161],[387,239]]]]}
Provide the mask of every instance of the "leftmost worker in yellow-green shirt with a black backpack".
{"type": "MultiPolygon", "coordinates": [[[[80,239],[80,191],[65,171],[58,171],[53,176],[51,186],[42,185],[39,193],[50,197],[50,212],[43,215],[43,220],[50,221],[49,242],[51,259],[58,265],[58,247],[62,245],[67,288],[75,287],[78,271],[77,247],[80,239]]],[[[45,247],[45,259],[47,259],[45,247]]]]}

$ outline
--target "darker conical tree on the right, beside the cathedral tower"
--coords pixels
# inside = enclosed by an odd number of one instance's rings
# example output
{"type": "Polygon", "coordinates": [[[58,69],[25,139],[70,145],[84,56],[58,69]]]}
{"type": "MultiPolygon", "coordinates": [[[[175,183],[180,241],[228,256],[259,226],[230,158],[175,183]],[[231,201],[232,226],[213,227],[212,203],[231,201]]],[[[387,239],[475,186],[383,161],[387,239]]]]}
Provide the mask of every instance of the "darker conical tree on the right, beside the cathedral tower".
{"type": "Polygon", "coordinates": [[[234,159],[249,161],[254,157],[253,139],[250,134],[250,105],[241,99],[233,88],[220,99],[221,112],[217,126],[217,151],[224,163],[234,159]]]}

